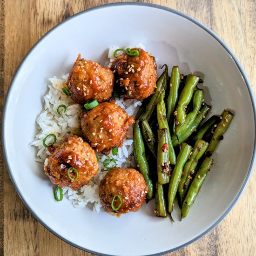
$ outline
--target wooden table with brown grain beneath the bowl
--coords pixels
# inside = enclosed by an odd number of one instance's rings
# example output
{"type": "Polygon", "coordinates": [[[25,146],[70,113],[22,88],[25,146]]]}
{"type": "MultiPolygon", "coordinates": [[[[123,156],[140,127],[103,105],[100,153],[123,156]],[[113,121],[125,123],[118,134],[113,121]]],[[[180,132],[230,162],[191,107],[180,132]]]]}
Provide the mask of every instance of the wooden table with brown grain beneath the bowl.
{"type": "MultiPolygon", "coordinates": [[[[20,61],[67,17],[115,0],[0,0],[0,111],[20,61]]],[[[255,0],[145,0],[187,13],[212,29],[236,54],[256,90],[255,0]]],[[[232,74],[231,74],[232,75],[232,74]]],[[[1,152],[2,153],[2,152],[1,152]]],[[[88,255],[61,241],[27,210],[1,155],[0,255],[88,255]]],[[[256,173],[229,215],[206,236],[168,255],[256,255],[256,173]]]]}

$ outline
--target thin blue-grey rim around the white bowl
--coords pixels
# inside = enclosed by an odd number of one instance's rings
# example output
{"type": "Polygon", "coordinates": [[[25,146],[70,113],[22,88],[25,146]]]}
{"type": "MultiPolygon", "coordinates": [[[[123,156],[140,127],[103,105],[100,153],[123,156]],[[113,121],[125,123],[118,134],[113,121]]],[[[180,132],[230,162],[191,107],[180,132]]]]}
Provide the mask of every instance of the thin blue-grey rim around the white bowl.
{"type": "MultiPolygon", "coordinates": [[[[16,77],[17,77],[17,74],[20,72],[20,69],[22,68],[23,66],[23,63],[27,60],[27,58],[29,57],[29,55],[34,51],[35,47],[45,38],[47,37],[48,34],[54,32],[54,30],[59,27],[61,24],[73,19],[74,17],[78,16],[78,15],[83,15],[84,13],[87,13],[87,12],[91,12],[91,11],[95,11],[97,9],[101,9],[101,8],[108,8],[108,7],[116,7],[116,6],[144,6],[144,7],[152,7],[152,8],[156,8],[156,9],[162,9],[162,10],[165,10],[167,12],[170,12],[170,13],[174,13],[176,15],[179,15],[183,18],[186,18],[187,20],[193,22],[195,25],[197,25],[198,27],[201,27],[204,31],[206,31],[209,35],[211,35],[215,40],[217,40],[217,42],[219,42],[219,44],[221,44],[221,46],[228,52],[228,54],[230,55],[230,57],[232,58],[232,60],[236,63],[236,66],[238,67],[245,83],[246,83],[246,86],[248,88],[248,91],[249,91],[249,96],[250,96],[250,99],[251,99],[251,103],[252,103],[252,108],[253,108],[253,115],[254,115],[254,126],[256,127],[256,101],[255,101],[255,97],[254,97],[254,93],[253,93],[253,90],[252,90],[252,87],[250,85],[250,82],[249,82],[249,79],[242,67],[242,65],[240,64],[240,62],[238,61],[238,59],[236,58],[236,55],[231,51],[231,49],[223,42],[223,40],[217,36],[212,30],[210,30],[208,27],[206,27],[205,25],[203,25],[201,22],[199,22],[198,20],[195,20],[194,18],[190,17],[189,15],[185,14],[185,13],[182,13],[180,11],[177,11],[175,9],[172,9],[170,7],[165,7],[165,6],[161,6],[161,5],[157,5],[157,4],[151,4],[151,3],[142,3],[142,2],[119,2],[119,3],[110,3],[110,4],[105,4],[105,5],[100,5],[100,6],[96,6],[96,7],[92,7],[92,8],[89,8],[89,9],[86,9],[86,10],[83,10],[79,13],[76,13],[74,15],[72,15],[71,17],[68,17],[66,20],[63,20],[61,21],[60,23],[58,23],[56,26],[54,26],[52,29],[50,29],[46,34],[44,34],[35,44],[34,46],[28,51],[28,53],[25,55],[25,57],[23,58],[23,60],[21,61],[19,67],[17,68],[15,74],[13,75],[13,79],[10,83],[10,86],[8,88],[8,91],[7,91],[7,96],[6,96],[6,100],[5,100],[5,104],[4,104],[4,109],[3,109],[3,118],[2,118],[2,136],[1,136],[1,141],[2,141],[2,148],[3,148],[3,155],[4,155],[4,160],[5,160],[5,163],[7,165],[7,171],[9,173],[9,176],[11,178],[11,181],[13,182],[13,185],[14,185],[14,188],[16,189],[18,195],[20,196],[20,199],[21,201],[25,204],[25,206],[27,207],[27,209],[32,213],[32,215],[45,227],[47,228],[52,234],[54,234],[55,236],[57,236],[58,238],[60,238],[61,240],[65,241],[66,243],[78,248],[78,249],[81,249],[81,250],[84,250],[84,251],[87,251],[89,253],[92,253],[92,254],[96,254],[96,255],[101,255],[101,256],[111,256],[111,255],[108,255],[108,254],[104,254],[104,253],[99,253],[99,252],[96,252],[96,251],[93,251],[93,250],[90,250],[90,249],[87,249],[87,248],[84,248],[84,247],[81,247],[75,243],[72,243],[70,241],[68,241],[65,237],[62,237],[61,235],[57,234],[53,229],[51,229],[46,223],[44,223],[39,216],[36,215],[36,213],[33,211],[33,209],[30,208],[29,204],[25,201],[25,199],[23,198],[19,188],[18,188],[18,185],[16,184],[15,180],[14,180],[14,177],[12,175],[12,171],[11,171],[11,168],[9,166],[9,162],[7,161],[7,143],[6,143],[6,139],[5,139],[5,130],[6,130],[6,118],[7,118],[7,105],[8,105],[8,101],[9,101],[9,97],[10,97],[10,94],[11,94],[11,89],[13,88],[13,84],[15,83],[16,81],[16,77]]],[[[183,247],[189,245],[190,243],[194,243],[196,240],[202,238],[202,236],[205,236],[209,231],[211,231],[212,229],[214,229],[227,215],[228,213],[230,212],[230,210],[235,206],[236,202],[240,199],[241,195],[243,194],[243,191],[245,189],[245,187],[247,186],[248,182],[249,182],[249,178],[250,178],[250,175],[252,174],[252,171],[253,171],[253,167],[254,167],[254,164],[255,164],[255,160],[256,160],[256,130],[254,131],[254,148],[253,148],[253,155],[252,155],[252,160],[251,160],[251,163],[250,163],[250,167],[249,167],[249,171],[246,175],[246,178],[245,178],[245,181],[243,183],[243,186],[242,188],[240,189],[240,191],[238,192],[238,194],[236,195],[236,198],[234,199],[234,201],[231,203],[231,205],[229,206],[229,208],[222,214],[222,216],[220,216],[220,218],[215,222],[213,223],[208,229],[206,229],[204,232],[202,232],[200,235],[196,236],[195,238],[191,239],[189,242],[187,243],[184,243],[180,246],[177,246],[173,249],[169,249],[167,251],[163,251],[163,252],[160,252],[160,253],[155,253],[155,254],[149,254],[149,255],[145,255],[145,256],[161,256],[163,254],[167,254],[167,253],[170,253],[170,252],[173,252],[175,250],[178,250],[178,249],[182,249],[183,247]]]]}

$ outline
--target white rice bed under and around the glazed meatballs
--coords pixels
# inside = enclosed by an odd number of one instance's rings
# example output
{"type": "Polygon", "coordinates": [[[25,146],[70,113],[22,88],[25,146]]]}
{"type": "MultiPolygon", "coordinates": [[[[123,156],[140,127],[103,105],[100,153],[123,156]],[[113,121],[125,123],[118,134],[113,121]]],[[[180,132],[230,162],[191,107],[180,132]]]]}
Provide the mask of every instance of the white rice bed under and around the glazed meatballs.
{"type": "MultiPolygon", "coordinates": [[[[132,48],[132,46],[129,46],[132,48]]],[[[133,47],[145,48],[142,44],[133,47]]],[[[108,57],[112,62],[115,57],[113,56],[115,49],[120,47],[111,47],[109,49],[108,57]]],[[[128,48],[128,47],[125,47],[128,48]]],[[[80,104],[75,104],[74,101],[67,97],[63,92],[63,86],[67,86],[68,74],[63,75],[61,79],[50,78],[50,84],[48,85],[48,92],[44,96],[44,108],[40,115],[36,119],[38,134],[35,136],[34,141],[31,145],[37,149],[37,155],[35,161],[42,162],[47,165],[48,156],[50,155],[47,148],[43,146],[43,139],[49,135],[56,135],[57,141],[55,145],[61,144],[69,135],[82,136],[81,126],[79,121],[79,114],[82,111],[80,104]],[[57,108],[59,105],[64,104],[67,106],[65,114],[59,115],[57,108]]],[[[116,104],[121,108],[125,109],[127,114],[130,116],[136,115],[141,101],[131,100],[124,102],[122,98],[115,99],[116,104]]],[[[118,148],[118,154],[112,155],[110,152],[109,157],[115,159],[116,165],[122,168],[135,167],[135,161],[133,156],[133,126],[130,126],[128,132],[123,140],[123,144],[118,148]]],[[[101,162],[104,161],[106,156],[101,156],[101,162]]],[[[97,175],[81,189],[74,191],[70,188],[63,188],[63,195],[70,200],[75,208],[84,208],[89,205],[94,211],[100,212],[101,201],[99,198],[99,185],[101,179],[106,175],[107,171],[103,164],[99,162],[100,170],[97,175]]]]}

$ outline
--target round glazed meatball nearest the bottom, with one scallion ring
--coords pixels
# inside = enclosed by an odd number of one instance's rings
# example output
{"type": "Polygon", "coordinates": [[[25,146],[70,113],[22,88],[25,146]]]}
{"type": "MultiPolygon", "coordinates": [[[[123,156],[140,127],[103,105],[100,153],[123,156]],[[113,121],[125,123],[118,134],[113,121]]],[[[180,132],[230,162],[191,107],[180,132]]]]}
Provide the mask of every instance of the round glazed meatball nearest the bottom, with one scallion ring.
{"type": "MultiPolygon", "coordinates": [[[[101,180],[99,196],[101,204],[109,212],[128,213],[140,209],[145,202],[148,187],[141,173],[135,169],[115,168],[110,170],[101,180]],[[120,195],[122,204],[120,209],[114,210],[111,202],[115,195],[120,195]]],[[[115,196],[113,206],[115,209],[120,205],[120,199],[115,196]]]]}

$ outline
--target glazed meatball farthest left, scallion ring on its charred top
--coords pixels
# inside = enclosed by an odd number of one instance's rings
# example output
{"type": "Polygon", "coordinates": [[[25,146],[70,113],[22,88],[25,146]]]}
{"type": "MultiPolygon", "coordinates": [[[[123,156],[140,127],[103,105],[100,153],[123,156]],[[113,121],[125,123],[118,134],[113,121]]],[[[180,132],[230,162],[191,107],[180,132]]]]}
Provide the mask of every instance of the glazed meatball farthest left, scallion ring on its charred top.
{"type": "MultiPolygon", "coordinates": [[[[82,138],[71,135],[60,146],[49,147],[51,155],[45,166],[45,174],[50,181],[60,187],[80,189],[96,175],[99,165],[94,150],[82,138]],[[68,177],[68,168],[73,167],[78,171],[77,180],[68,177]]],[[[76,178],[76,172],[70,170],[70,177],[76,178]]]]}

